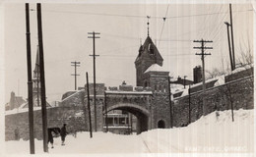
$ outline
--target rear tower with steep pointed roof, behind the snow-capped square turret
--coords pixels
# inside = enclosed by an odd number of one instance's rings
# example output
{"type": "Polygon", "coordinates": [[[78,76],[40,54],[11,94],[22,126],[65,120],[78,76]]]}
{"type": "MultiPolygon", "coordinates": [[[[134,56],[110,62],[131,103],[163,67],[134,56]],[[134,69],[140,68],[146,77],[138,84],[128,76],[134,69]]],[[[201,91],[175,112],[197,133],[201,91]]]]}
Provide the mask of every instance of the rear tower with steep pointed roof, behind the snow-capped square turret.
{"type": "Polygon", "coordinates": [[[143,45],[140,46],[139,54],[135,60],[136,68],[136,85],[147,86],[144,84],[145,71],[154,64],[162,66],[162,57],[157,46],[153,43],[150,36],[148,36],[143,45]]]}

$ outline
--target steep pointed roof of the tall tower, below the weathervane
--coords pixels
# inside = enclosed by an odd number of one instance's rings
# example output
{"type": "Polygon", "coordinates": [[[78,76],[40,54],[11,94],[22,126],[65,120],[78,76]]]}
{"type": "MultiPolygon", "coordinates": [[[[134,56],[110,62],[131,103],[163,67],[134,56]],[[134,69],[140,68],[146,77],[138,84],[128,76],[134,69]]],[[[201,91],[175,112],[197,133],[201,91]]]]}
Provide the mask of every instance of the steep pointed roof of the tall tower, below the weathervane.
{"type": "Polygon", "coordinates": [[[154,44],[150,36],[147,36],[143,45],[141,45],[139,49],[139,54],[135,60],[135,62],[139,61],[143,57],[150,57],[152,60],[155,60],[155,63],[162,66],[162,57],[160,56],[160,52],[157,46],[154,44]]]}

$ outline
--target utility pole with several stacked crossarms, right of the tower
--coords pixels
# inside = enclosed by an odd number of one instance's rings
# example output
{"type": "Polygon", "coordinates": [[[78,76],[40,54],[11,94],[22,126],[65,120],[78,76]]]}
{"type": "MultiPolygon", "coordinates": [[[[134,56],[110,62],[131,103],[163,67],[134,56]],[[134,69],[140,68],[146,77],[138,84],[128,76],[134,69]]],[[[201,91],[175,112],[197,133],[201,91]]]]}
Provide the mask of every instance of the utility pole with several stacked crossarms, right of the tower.
{"type": "Polygon", "coordinates": [[[213,42],[213,41],[207,41],[207,40],[194,40],[194,42],[200,42],[201,43],[201,47],[194,47],[194,49],[201,49],[201,53],[196,53],[196,55],[200,55],[201,56],[201,60],[202,60],[202,71],[203,71],[203,115],[206,114],[205,111],[205,91],[206,91],[206,78],[205,78],[205,56],[207,55],[211,55],[211,53],[205,53],[205,49],[213,49],[213,47],[206,47],[205,43],[209,43],[209,42],[213,42]]]}

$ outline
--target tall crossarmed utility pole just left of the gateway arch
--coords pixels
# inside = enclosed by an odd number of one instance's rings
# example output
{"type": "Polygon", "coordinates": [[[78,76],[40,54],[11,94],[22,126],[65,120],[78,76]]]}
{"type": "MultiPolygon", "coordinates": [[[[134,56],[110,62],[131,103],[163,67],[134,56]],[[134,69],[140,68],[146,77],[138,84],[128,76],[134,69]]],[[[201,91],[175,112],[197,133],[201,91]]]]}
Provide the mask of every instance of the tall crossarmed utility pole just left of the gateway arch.
{"type": "Polygon", "coordinates": [[[95,103],[95,130],[96,130],[96,38],[100,38],[96,36],[96,34],[100,34],[99,32],[88,32],[88,34],[93,34],[93,36],[88,36],[88,38],[93,38],[93,45],[94,45],[94,55],[90,55],[94,57],[94,103],[95,103]]]}

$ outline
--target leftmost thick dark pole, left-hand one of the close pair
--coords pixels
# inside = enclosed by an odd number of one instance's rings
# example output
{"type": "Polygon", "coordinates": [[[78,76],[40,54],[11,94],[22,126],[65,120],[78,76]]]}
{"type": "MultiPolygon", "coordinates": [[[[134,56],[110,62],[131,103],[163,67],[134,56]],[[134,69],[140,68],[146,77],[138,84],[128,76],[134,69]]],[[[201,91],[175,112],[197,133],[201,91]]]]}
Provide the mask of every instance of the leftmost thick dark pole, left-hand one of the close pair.
{"type": "Polygon", "coordinates": [[[28,63],[28,97],[29,97],[29,122],[30,122],[30,151],[34,154],[33,137],[33,105],[32,105],[32,53],[31,53],[31,28],[30,4],[26,3],[26,35],[27,35],[27,63],[28,63]]]}

